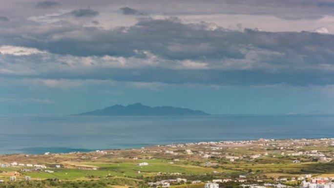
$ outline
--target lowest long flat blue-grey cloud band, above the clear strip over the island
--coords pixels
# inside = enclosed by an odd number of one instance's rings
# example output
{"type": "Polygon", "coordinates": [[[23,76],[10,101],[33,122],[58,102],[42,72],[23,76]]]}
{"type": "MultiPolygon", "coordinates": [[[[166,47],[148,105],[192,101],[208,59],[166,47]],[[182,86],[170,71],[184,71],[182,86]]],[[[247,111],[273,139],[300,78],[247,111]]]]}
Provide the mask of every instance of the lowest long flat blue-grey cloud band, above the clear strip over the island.
{"type": "MultiPolygon", "coordinates": [[[[2,76],[3,77],[3,76],[2,76]]],[[[1,78],[1,75],[0,75],[1,78]]],[[[334,74],[329,71],[281,71],[260,70],[175,70],[175,69],[121,69],[92,68],[87,70],[47,71],[39,75],[3,78],[112,80],[118,82],[145,82],[165,84],[206,84],[222,86],[261,85],[333,85],[334,74]]]]}

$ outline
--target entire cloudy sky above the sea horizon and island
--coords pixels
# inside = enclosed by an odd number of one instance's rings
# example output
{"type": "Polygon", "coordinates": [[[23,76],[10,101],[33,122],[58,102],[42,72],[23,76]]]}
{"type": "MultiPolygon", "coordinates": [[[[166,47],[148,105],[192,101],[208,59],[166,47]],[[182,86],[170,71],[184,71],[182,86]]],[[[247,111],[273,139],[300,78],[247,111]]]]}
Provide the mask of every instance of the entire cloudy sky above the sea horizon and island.
{"type": "Polygon", "coordinates": [[[334,0],[0,4],[0,115],[334,113],[334,0]]]}

